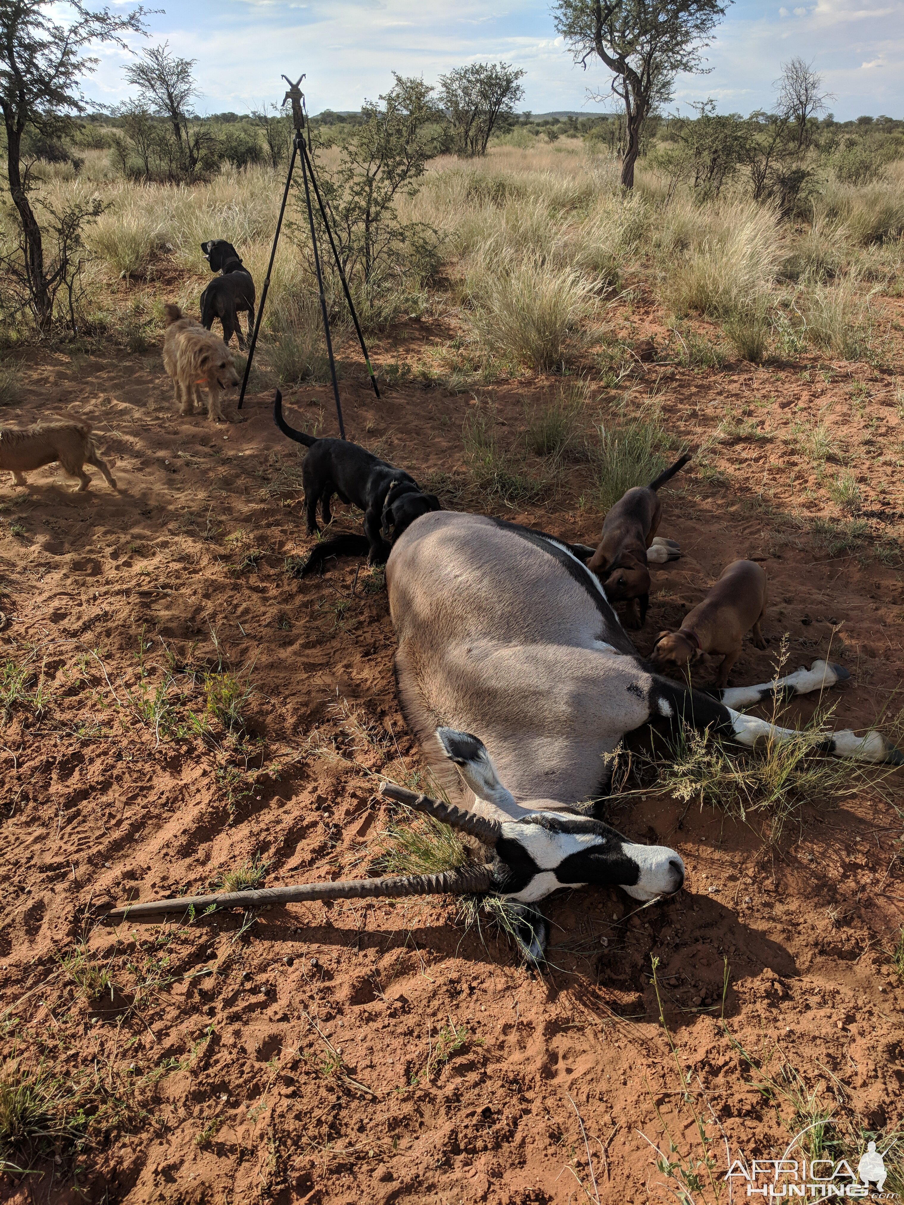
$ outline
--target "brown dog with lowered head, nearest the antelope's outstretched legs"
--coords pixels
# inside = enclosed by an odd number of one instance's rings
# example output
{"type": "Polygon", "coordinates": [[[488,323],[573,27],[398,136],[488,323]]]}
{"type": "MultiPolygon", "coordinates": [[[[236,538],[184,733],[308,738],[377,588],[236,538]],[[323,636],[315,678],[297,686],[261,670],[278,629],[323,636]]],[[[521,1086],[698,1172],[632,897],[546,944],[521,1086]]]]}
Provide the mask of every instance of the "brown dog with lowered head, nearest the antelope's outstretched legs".
{"type": "Polygon", "coordinates": [[[686,665],[704,653],[722,657],[714,686],[728,686],[745,631],[753,629],[753,643],[765,648],[759,628],[765,615],[765,570],[755,560],[733,560],[706,598],[688,611],[677,631],[661,631],[650,654],[657,669],[686,665]]]}

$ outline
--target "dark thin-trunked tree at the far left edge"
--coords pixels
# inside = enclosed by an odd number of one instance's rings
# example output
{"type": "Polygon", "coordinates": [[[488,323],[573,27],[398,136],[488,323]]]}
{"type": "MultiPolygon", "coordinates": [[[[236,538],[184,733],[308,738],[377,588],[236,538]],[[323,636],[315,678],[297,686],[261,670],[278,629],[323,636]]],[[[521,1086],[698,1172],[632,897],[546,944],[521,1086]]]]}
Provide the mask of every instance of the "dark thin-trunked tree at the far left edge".
{"type": "MultiPolygon", "coordinates": [[[[141,33],[143,10],[116,16],[108,8],[93,12],[78,0],[70,4],[67,24],[54,19],[53,0],[0,0],[0,110],[6,130],[6,176],[22,233],[23,276],[40,331],[53,317],[55,286],[69,263],[63,252],[47,265],[41,225],[29,200],[28,165],[23,171],[22,140],[28,131],[43,137],[71,134],[75,118],[86,110],[80,80],[95,70],[98,59],[86,54],[92,45],[125,46],[125,33],[141,33]]],[[[89,214],[86,214],[89,216],[89,214]]],[[[63,216],[65,217],[65,216],[63,216]]],[[[80,219],[83,221],[84,216],[80,219]]],[[[65,247],[76,233],[67,221],[65,247]]],[[[59,242],[59,239],[58,239],[59,242]]]]}

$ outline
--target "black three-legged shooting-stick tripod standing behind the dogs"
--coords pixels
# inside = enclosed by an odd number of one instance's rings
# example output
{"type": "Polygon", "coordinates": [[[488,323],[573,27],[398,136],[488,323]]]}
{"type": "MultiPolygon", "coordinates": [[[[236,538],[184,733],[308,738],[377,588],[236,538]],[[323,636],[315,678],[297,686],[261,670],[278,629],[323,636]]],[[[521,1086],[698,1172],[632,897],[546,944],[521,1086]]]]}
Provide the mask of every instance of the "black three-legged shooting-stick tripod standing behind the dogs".
{"type": "Polygon", "coordinates": [[[258,307],[257,321],[254,322],[254,333],[251,336],[251,346],[248,347],[248,359],[245,364],[245,377],[242,380],[241,393],[239,394],[239,410],[242,408],[242,402],[245,401],[245,390],[248,386],[248,377],[251,375],[251,362],[254,359],[254,348],[257,347],[258,334],[260,331],[260,321],[264,317],[264,306],[266,304],[266,294],[270,288],[270,275],[274,270],[274,260],[276,259],[276,247],[280,242],[280,231],[282,230],[282,219],[286,213],[286,202],[289,199],[289,188],[292,187],[292,175],[295,170],[295,159],[301,155],[301,178],[305,184],[305,202],[307,206],[307,224],[311,228],[311,247],[313,249],[313,266],[317,274],[317,288],[321,295],[321,315],[323,316],[323,331],[327,339],[327,354],[329,357],[329,372],[333,380],[333,395],[336,400],[336,416],[339,418],[339,434],[345,439],[345,423],[342,422],[342,404],[339,400],[339,381],[336,380],[336,362],[333,355],[333,339],[329,331],[329,316],[327,313],[327,298],[323,292],[323,271],[321,269],[321,255],[317,247],[317,233],[313,223],[313,207],[311,205],[311,186],[313,186],[313,195],[317,199],[317,206],[321,211],[321,218],[323,219],[323,228],[327,231],[327,237],[329,239],[330,249],[333,251],[333,258],[339,271],[339,278],[342,282],[342,292],[345,293],[345,299],[348,302],[348,310],[352,315],[352,322],[354,323],[354,329],[358,333],[358,342],[360,343],[360,349],[364,354],[364,363],[368,365],[368,372],[370,375],[370,383],[374,386],[374,393],[380,396],[380,389],[377,388],[376,377],[374,376],[374,369],[370,366],[370,357],[368,355],[368,348],[364,342],[364,335],[362,334],[360,323],[358,322],[358,315],[354,310],[354,302],[352,301],[352,294],[348,292],[348,282],[345,278],[345,271],[342,270],[342,261],[339,258],[339,251],[336,249],[336,243],[333,237],[333,231],[330,230],[329,219],[327,217],[327,210],[323,204],[323,198],[321,196],[321,190],[317,187],[317,177],[313,174],[313,163],[309,154],[307,147],[305,145],[305,116],[303,111],[304,94],[301,92],[300,84],[304,76],[300,76],[295,83],[293,83],[288,76],[282,77],[289,86],[289,90],[283,98],[283,105],[287,100],[292,101],[292,124],[294,127],[294,135],[292,139],[292,158],[289,159],[289,171],[286,177],[286,188],[282,194],[282,205],[280,206],[280,217],[276,222],[276,234],[274,235],[274,246],[270,251],[270,263],[266,269],[266,280],[264,281],[264,287],[260,290],[260,305],[258,307]],[[310,177],[310,184],[309,184],[310,177]]]}

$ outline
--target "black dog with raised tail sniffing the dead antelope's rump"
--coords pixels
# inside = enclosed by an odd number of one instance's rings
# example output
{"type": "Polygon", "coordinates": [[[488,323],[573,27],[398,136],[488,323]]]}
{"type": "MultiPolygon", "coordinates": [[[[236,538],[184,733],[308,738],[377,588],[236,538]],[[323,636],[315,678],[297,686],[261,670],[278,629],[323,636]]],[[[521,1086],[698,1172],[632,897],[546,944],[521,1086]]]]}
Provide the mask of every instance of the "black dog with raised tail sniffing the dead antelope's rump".
{"type": "Polygon", "coordinates": [[[439,498],[424,494],[404,469],[393,469],[366,448],[348,440],[318,440],[289,427],[282,417],[282,394],[276,390],[274,421],[283,435],[311,451],[305,457],[301,481],[307,506],[307,533],[319,531],[317,504],[323,522],[331,523],[329,504],[334,494],[364,511],[364,536],[347,535],[318,545],[305,562],[299,577],[317,569],[337,553],[366,552],[371,565],[382,565],[392,543],[415,519],[428,511],[440,511],[439,498]]]}

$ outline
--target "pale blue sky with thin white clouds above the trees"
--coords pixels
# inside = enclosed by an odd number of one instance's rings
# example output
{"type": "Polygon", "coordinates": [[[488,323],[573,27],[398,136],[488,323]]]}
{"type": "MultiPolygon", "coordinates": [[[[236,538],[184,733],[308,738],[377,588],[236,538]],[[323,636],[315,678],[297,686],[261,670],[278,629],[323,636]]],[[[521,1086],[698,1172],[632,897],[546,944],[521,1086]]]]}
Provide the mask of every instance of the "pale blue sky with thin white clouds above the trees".
{"type": "MultiPolygon", "coordinates": [[[[904,117],[904,0],[786,5],[738,0],[708,52],[711,74],[680,78],[676,102],[712,96],[724,112],[765,107],[781,64],[802,55],[834,93],[839,119],[904,117]]],[[[392,84],[393,70],[434,81],[486,59],[524,67],[523,105],[534,112],[595,112],[588,88],[607,87],[601,65],[582,71],[571,63],[548,7],[530,0],[181,0],[148,24],[151,41],[168,39],[176,53],[198,60],[200,112],[281,101],[283,71],[307,74],[312,113],[357,108],[392,84]]],[[[113,104],[128,95],[125,61],[104,48],[87,84],[92,99],[113,104]]]]}

